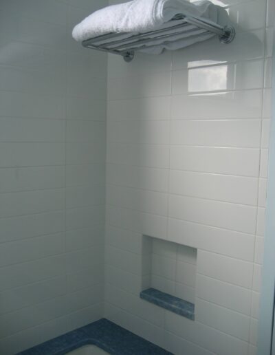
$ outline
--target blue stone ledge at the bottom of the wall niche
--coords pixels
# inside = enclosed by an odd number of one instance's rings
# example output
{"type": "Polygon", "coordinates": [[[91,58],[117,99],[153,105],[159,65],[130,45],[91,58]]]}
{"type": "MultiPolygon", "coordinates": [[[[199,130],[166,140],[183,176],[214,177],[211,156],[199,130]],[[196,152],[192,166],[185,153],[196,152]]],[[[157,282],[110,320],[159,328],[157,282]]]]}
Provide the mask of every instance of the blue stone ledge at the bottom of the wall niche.
{"type": "Polygon", "coordinates": [[[155,288],[148,288],[140,292],[140,298],[159,305],[159,307],[165,308],[166,310],[185,316],[192,321],[195,319],[194,303],[184,301],[184,299],[179,299],[171,294],[156,290],[155,288]]]}

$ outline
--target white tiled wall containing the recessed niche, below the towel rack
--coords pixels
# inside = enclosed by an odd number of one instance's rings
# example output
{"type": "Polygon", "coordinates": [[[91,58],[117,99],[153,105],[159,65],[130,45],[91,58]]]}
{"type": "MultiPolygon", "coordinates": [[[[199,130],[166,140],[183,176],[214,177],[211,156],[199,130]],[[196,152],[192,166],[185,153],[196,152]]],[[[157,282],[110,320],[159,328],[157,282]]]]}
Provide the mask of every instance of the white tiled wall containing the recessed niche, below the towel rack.
{"type": "Polygon", "coordinates": [[[109,56],[105,316],[175,354],[254,355],[274,1],[213,2],[230,45],[109,56]],[[197,248],[195,321],[139,298],[142,235],[197,248]]]}

